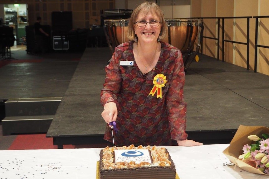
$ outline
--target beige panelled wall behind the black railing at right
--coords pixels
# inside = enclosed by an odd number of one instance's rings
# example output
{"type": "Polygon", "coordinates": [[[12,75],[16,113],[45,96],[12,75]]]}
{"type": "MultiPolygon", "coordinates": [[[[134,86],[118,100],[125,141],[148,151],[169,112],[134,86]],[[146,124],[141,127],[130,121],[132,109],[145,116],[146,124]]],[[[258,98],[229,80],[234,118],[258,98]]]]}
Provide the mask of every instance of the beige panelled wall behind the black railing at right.
{"type": "MultiPolygon", "coordinates": [[[[240,17],[268,16],[268,0],[192,0],[192,17],[240,17]]],[[[220,20],[222,27],[222,20],[220,20]]],[[[217,37],[217,23],[214,19],[204,19],[204,36],[217,37]]],[[[269,18],[260,18],[258,44],[269,46],[269,18]]],[[[249,68],[254,70],[255,59],[255,18],[250,18],[249,68]]],[[[220,54],[222,60],[222,30],[220,30],[220,54]]],[[[247,42],[247,19],[225,19],[224,39],[247,42]]],[[[215,40],[203,38],[203,54],[217,58],[215,40]]],[[[224,42],[224,61],[247,68],[247,45],[224,42]]],[[[258,48],[257,72],[269,75],[269,49],[258,48]]]]}

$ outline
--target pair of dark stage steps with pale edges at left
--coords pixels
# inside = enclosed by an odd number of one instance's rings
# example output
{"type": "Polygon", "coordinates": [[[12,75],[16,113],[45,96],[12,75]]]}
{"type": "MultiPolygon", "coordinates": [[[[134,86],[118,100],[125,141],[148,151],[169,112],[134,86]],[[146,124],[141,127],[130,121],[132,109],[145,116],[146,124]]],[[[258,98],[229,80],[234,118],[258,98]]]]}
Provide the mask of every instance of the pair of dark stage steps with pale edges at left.
{"type": "Polygon", "coordinates": [[[62,97],[8,99],[5,101],[3,135],[46,133],[62,97]]]}

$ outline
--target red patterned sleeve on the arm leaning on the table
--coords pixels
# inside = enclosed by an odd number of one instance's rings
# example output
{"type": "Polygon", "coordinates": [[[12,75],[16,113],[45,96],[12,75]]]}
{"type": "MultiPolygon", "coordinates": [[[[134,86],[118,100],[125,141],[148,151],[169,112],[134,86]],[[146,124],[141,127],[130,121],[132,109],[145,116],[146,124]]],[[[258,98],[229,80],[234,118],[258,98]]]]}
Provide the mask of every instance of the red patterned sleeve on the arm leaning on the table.
{"type": "Polygon", "coordinates": [[[186,103],[184,101],[183,86],[185,72],[183,58],[180,50],[175,53],[175,66],[172,74],[170,87],[167,94],[167,109],[170,123],[171,137],[174,140],[185,140],[186,134],[186,103]]]}

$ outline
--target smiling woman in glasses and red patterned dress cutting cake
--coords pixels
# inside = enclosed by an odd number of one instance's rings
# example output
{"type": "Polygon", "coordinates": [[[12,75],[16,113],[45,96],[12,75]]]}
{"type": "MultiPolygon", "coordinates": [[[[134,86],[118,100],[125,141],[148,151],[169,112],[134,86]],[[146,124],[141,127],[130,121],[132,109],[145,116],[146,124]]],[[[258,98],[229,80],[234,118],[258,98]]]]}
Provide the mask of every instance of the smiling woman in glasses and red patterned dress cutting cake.
{"type": "Polygon", "coordinates": [[[140,4],[128,26],[128,38],[133,40],[116,47],[105,67],[104,139],[112,141],[109,123],[115,121],[116,146],[164,146],[172,145],[172,139],[178,145],[202,145],[187,139],[183,59],[179,49],[160,41],[166,29],[158,4],[140,4]]]}

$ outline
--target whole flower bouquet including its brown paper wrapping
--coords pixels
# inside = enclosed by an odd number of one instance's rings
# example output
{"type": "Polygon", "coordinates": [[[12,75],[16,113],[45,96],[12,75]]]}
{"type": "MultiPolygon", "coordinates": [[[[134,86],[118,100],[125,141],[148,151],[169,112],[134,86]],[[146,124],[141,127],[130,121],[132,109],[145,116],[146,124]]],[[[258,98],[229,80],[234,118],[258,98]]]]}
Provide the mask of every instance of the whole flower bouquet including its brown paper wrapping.
{"type": "Polygon", "coordinates": [[[223,153],[247,172],[269,175],[269,128],[240,125],[223,153]]]}

